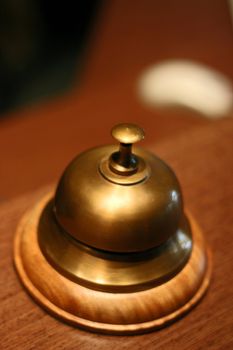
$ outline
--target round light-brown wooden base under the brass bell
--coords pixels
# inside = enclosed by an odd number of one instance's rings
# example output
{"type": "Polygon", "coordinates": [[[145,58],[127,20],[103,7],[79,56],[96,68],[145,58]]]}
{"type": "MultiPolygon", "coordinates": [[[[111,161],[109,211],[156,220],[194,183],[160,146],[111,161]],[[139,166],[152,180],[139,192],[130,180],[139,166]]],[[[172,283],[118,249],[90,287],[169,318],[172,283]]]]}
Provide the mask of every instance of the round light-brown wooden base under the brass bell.
{"type": "Polygon", "coordinates": [[[19,223],[14,246],[15,266],[34,299],[73,325],[108,334],[144,333],[188,312],[209,285],[209,253],[200,229],[190,217],[193,250],[184,268],[164,284],[129,293],[92,290],[61,275],[40,250],[38,220],[38,212],[30,210],[19,223]]]}

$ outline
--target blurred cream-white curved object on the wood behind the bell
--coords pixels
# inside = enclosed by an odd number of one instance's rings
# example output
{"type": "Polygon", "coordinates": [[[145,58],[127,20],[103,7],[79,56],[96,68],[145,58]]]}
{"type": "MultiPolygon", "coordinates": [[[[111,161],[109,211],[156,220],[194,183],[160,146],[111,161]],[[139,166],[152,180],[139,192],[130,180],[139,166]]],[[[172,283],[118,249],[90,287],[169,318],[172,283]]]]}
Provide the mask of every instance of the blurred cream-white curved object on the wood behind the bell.
{"type": "Polygon", "coordinates": [[[210,118],[228,115],[233,107],[231,82],[221,73],[188,60],[151,66],[139,79],[139,94],[154,106],[183,106],[210,118]]]}

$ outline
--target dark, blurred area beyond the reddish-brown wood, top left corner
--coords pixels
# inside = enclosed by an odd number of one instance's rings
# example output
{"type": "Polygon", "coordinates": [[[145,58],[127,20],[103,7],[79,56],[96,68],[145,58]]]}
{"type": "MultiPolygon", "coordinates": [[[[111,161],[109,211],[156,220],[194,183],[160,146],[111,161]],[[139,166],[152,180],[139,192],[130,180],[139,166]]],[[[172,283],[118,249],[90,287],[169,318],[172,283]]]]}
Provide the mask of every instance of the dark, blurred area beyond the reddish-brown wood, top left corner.
{"type": "Polygon", "coordinates": [[[64,92],[81,79],[100,0],[0,1],[0,115],[64,92]]]}

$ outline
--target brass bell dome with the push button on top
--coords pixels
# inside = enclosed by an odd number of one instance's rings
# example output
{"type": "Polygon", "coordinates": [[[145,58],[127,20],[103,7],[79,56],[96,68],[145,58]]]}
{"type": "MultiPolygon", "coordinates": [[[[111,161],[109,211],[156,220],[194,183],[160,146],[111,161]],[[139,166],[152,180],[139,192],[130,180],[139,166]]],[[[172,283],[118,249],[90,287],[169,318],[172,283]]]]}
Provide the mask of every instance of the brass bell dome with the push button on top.
{"type": "Polygon", "coordinates": [[[87,246],[111,252],[139,252],[164,243],[183,216],[174,172],[153,154],[131,146],[144,137],[132,124],[112,129],[118,146],[77,156],[58,184],[58,224],[87,246]]]}

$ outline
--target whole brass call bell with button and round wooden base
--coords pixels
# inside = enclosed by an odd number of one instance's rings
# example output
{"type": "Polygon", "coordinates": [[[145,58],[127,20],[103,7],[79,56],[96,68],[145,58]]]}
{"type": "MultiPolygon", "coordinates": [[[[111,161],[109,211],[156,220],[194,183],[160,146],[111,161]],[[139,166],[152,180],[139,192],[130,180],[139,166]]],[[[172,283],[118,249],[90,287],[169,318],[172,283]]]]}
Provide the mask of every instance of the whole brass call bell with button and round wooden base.
{"type": "Polygon", "coordinates": [[[143,130],[119,124],[112,135],[120,146],[78,155],[55,195],[25,214],[15,265],[32,296],[59,318],[103,333],[143,333],[200,300],[211,264],[174,172],[132,149],[143,130]]]}

